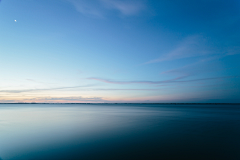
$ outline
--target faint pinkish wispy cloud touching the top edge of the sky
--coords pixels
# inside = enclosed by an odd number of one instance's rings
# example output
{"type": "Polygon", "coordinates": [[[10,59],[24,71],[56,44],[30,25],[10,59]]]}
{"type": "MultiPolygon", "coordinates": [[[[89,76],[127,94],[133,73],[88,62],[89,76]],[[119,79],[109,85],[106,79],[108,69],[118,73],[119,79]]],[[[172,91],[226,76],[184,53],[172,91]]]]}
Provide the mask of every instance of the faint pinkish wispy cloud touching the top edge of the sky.
{"type": "Polygon", "coordinates": [[[83,15],[104,18],[108,11],[118,11],[124,16],[133,16],[144,10],[141,0],[68,0],[83,15]]]}

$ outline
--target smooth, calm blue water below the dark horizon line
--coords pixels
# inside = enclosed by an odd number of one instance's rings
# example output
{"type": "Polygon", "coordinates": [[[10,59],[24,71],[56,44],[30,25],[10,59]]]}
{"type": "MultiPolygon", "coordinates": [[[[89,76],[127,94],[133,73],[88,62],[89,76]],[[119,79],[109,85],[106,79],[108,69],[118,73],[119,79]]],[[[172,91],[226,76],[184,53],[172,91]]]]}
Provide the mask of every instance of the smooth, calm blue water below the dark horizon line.
{"type": "Polygon", "coordinates": [[[1,104],[0,157],[240,160],[240,106],[1,104]]]}

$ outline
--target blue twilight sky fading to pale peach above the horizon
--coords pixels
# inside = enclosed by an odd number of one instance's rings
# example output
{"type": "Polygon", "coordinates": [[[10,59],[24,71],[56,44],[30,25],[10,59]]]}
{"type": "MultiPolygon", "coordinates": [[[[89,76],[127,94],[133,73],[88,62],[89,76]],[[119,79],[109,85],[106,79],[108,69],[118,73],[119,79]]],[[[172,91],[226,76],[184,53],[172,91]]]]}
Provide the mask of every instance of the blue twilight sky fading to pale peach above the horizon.
{"type": "Polygon", "coordinates": [[[0,103],[239,103],[239,0],[0,0],[0,103]]]}

